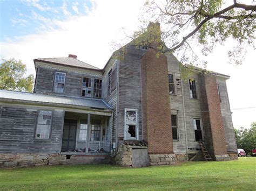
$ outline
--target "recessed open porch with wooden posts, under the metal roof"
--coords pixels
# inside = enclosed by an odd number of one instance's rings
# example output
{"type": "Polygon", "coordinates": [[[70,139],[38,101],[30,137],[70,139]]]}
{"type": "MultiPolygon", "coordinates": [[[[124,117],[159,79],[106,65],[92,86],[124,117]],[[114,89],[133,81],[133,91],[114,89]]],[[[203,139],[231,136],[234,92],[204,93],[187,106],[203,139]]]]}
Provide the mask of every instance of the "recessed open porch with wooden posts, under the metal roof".
{"type": "Polygon", "coordinates": [[[65,112],[62,155],[109,155],[110,116],[65,112]]]}

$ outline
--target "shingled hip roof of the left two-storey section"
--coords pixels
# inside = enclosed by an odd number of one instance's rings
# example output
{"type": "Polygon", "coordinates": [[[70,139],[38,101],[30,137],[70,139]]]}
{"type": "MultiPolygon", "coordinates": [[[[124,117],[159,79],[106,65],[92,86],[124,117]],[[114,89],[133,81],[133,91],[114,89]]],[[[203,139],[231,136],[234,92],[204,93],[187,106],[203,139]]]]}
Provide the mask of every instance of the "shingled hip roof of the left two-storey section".
{"type": "Polygon", "coordinates": [[[45,63],[53,63],[56,65],[66,65],[76,68],[86,68],[86,69],[93,69],[93,70],[100,70],[99,68],[89,65],[89,63],[82,62],[80,60],[77,60],[75,58],[71,57],[64,57],[64,58],[39,58],[34,59],[34,62],[40,61],[45,63]]]}

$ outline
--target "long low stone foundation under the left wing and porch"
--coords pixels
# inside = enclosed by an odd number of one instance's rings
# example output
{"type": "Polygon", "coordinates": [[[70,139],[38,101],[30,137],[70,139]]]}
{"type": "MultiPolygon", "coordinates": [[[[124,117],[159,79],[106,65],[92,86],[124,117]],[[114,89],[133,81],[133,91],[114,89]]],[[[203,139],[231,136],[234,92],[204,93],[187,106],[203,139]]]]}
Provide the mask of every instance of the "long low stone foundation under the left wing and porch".
{"type": "Polygon", "coordinates": [[[61,154],[29,154],[29,153],[0,153],[0,168],[46,166],[64,164],[110,164],[107,155],[66,155],[61,154]]]}

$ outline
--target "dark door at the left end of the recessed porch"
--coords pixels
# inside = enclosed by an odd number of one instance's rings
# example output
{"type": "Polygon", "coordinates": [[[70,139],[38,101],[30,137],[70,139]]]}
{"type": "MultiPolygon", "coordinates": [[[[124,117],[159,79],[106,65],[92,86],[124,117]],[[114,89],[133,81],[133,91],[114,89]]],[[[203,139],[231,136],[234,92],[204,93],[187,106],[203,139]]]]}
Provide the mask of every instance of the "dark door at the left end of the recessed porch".
{"type": "Polygon", "coordinates": [[[76,120],[65,120],[62,138],[62,151],[73,151],[76,149],[76,120]]]}

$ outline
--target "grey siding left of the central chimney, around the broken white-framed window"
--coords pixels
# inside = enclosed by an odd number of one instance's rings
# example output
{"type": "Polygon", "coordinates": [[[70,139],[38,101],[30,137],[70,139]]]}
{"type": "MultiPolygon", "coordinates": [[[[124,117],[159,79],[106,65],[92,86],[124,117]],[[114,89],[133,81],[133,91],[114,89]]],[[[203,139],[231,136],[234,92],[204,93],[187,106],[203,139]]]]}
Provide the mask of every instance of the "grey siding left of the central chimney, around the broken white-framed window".
{"type": "Polygon", "coordinates": [[[119,66],[118,137],[124,138],[124,109],[139,109],[139,140],[142,140],[142,77],[140,58],[146,51],[127,47],[119,66]]]}

